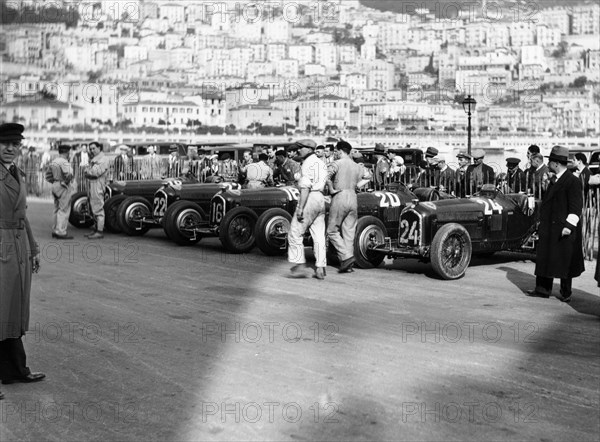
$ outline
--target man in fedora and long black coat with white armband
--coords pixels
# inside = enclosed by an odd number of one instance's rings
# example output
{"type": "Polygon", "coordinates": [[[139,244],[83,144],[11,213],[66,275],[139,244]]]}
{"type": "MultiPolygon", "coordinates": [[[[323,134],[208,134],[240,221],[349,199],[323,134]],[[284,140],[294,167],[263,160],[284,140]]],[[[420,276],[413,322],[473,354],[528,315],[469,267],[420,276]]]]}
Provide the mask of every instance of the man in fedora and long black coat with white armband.
{"type": "Polygon", "coordinates": [[[583,194],[581,181],[567,171],[569,149],[554,146],[548,159],[548,167],[556,176],[550,180],[540,205],[535,289],[527,295],[549,298],[553,279],[560,278],[559,299],[570,302],[572,280],[584,271],[580,222],[583,194]]]}

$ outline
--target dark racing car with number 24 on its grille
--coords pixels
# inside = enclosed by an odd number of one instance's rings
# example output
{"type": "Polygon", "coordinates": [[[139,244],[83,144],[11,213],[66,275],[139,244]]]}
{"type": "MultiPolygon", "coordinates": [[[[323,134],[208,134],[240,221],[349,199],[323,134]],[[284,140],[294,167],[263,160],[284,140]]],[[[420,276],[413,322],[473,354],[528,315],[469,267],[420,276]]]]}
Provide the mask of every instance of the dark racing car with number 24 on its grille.
{"type": "Polygon", "coordinates": [[[463,277],[474,254],[533,253],[537,238],[533,197],[488,185],[469,198],[415,202],[402,211],[393,232],[376,223],[371,228],[377,232],[368,245],[373,265],[385,256],[418,258],[446,280],[463,277]]]}

